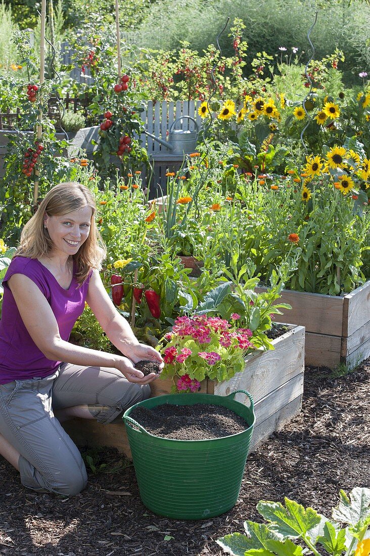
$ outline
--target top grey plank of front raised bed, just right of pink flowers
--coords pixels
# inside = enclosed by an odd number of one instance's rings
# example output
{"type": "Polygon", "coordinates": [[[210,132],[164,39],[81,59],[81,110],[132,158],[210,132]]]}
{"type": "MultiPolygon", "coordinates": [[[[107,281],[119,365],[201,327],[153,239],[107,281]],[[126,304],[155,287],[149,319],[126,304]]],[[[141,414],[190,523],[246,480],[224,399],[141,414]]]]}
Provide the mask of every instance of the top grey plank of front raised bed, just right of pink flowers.
{"type": "Polygon", "coordinates": [[[272,351],[247,356],[243,373],[216,383],[214,394],[226,396],[248,390],[255,403],[304,371],[304,326],[297,326],[273,341],[272,351]]]}

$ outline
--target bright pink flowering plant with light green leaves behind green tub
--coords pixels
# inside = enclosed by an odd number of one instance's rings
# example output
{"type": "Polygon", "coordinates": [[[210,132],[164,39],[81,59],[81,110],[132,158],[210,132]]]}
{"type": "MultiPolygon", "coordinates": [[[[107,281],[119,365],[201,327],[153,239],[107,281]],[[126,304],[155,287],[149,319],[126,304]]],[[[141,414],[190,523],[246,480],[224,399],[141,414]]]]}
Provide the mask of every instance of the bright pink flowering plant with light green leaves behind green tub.
{"type": "Polygon", "coordinates": [[[236,326],[239,315],[231,319],[233,324],[206,315],[177,318],[161,340],[161,376],[174,378],[177,391],[195,392],[205,378],[227,380],[242,371],[245,355],[254,349],[252,332],[236,326]]]}

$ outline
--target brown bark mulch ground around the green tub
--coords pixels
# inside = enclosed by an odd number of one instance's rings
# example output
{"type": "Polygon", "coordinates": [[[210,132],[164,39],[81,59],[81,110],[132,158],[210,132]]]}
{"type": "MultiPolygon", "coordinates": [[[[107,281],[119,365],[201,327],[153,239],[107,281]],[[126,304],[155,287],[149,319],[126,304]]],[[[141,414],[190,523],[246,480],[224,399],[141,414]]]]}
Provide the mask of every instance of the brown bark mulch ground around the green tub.
{"type": "Polygon", "coordinates": [[[250,454],[227,514],[199,522],[157,517],[141,503],[132,465],[112,449],[100,461],[87,453],[99,470],[74,498],[23,489],[1,460],[0,554],[221,556],[215,539],[259,520],[260,499],[287,496],[330,517],[340,488],[370,486],[370,359],[337,378],[328,369],[306,371],[302,413],[250,454]]]}

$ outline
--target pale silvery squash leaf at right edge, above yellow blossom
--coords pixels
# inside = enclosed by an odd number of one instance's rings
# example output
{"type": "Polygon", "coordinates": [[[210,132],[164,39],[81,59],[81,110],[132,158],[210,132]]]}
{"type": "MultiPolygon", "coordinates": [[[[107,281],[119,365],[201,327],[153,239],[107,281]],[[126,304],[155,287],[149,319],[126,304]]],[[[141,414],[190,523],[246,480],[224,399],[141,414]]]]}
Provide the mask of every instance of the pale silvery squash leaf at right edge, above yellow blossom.
{"type": "Polygon", "coordinates": [[[333,509],[333,519],[355,526],[370,517],[370,489],[356,486],[349,498],[344,490],[340,490],[339,497],[339,504],[333,509]]]}

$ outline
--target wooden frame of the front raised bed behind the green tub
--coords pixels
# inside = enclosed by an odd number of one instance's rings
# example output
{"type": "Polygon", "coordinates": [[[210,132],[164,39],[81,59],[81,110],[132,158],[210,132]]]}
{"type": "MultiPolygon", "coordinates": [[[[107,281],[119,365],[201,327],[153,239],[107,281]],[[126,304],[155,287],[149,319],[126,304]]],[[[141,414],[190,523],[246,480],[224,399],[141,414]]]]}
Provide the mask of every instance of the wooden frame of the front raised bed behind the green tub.
{"type": "MultiPolygon", "coordinates": [[[[249,390],[255,403],[256,422],[251,450],[280,430],[302,407],[304,378],[304,327],[289,325],[288,331],[273,340],[272,351],[256,351],[245,361],[243,373],[223,383],[204,380],[202,393],[228,395],[236,390],[249,390]]],[[[172,381],[157,379],[152,395],[169,394],[172,381]]],[[[184,394],[186,395],[186,394],[184,394]]],[[[244,394],[237,394],[245,401],[244,394]]],[[[68,434],[80,446],[114,446],[131,456],[123,423],[102,426],[96,421],[73,419],[63,423],[68,434]]]]}

